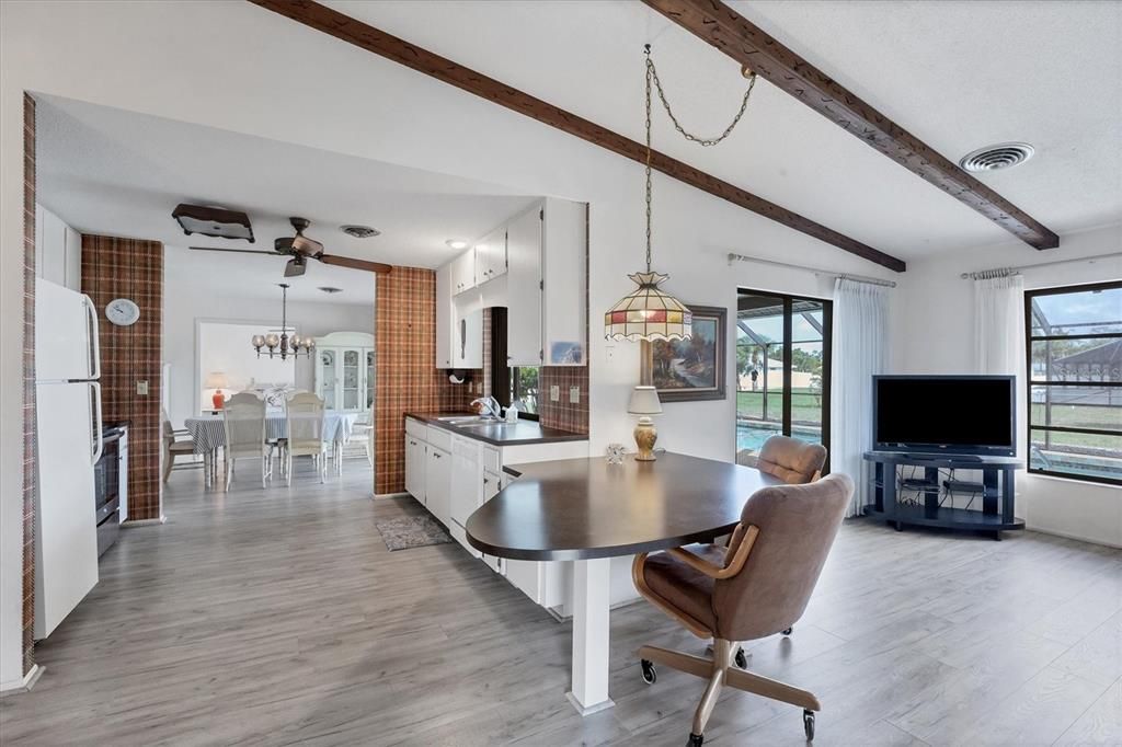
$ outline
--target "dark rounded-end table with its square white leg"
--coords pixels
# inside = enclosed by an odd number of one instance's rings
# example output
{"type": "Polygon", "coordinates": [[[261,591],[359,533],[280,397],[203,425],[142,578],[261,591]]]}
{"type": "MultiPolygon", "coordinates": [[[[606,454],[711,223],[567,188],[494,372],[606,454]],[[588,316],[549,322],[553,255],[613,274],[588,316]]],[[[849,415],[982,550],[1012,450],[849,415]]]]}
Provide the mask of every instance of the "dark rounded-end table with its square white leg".
{"type": "Polygon", "coordinates": [[[665,452],[657,461],[565,459],[504,467],[514,478],[467,523],[488,555],[572,561],[572,686],[582,716],[610,708],[608,642],[613,557],[712,542],[745,501],[782,481],[755,468],[665,452]]]}

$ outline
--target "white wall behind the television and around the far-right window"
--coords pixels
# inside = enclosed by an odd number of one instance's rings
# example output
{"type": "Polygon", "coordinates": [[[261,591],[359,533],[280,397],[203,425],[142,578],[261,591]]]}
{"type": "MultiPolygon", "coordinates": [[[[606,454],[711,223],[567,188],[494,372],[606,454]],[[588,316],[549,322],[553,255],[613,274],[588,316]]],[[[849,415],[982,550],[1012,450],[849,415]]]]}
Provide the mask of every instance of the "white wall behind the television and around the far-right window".
{"type": "MultiPolygon", "coordinates": [[[[1063,237],[1060,247],[1034,251],[1008,242],[911,262],[896,290],[893,368],[900,374],[973,374],[974,290],[962,273],[1022,266],[1122,250],[1122,227],[1063,237]]],[[[1122,278],[1122,258],[1067,262],[1024,271],[1024,287],[1045,288],[1122,278]]],[[[1011,334],[1024,334],[1013,330],[1011,334]]],[[[1022,424],[1023,425],[1023,424],[1022,424]]],[[[1022,427],[1019,425],[1019,427],[1022,427]]],[[[1021,473],[1018,515],[1030,528],[1122,546],[1122,488],[1021,473]]]]}

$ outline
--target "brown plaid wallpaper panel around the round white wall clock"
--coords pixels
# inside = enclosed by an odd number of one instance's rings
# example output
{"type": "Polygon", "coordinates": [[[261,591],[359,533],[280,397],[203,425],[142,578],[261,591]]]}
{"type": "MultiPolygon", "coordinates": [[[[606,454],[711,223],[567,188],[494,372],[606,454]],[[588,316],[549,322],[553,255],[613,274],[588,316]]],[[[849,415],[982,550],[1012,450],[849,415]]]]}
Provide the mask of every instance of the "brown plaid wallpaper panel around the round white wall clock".
{"type": "Polygon", "coordinates": [[[99,320],[102,411],[108,422],[129,422],[129,520],[159,518],[164,245],[83,236],[82,292],[98,310],[113,298],[140,307],[131,326],[99,320]],[[147,396],[136,394],[137,381],[148,382],[147,396]]]}

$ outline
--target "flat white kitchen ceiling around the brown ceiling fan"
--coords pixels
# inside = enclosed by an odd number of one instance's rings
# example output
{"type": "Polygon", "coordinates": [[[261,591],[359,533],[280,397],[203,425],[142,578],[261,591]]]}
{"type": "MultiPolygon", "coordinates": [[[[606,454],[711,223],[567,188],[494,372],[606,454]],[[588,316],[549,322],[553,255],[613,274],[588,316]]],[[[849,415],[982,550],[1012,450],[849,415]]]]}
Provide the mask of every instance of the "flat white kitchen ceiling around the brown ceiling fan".
{"type": "MultiPolygon", "coordinates": [[[[478,239],[535,199],[444,174],[37,98],[40,202],[82,232],[154,239],[169,251],[185,252],[187,246],[272,249],[275,238],[293,234],[288,216],[300,215],[312,221],[307,236],[322,241],[328,253],[435,267],[456,253],[448,239],[478,239]],[[255,243],[185,236],[172,219],[180,202],[246,211],[255,243]],[[355,239],[339,230],[344,223],[373,225],[381,236],[355,239]]],[[[246,295],[275,295],[286,261],[192,253],[199,257],[190,265],[210,267],[222,287],[246,295]]],[[[305,276],[292,283],[294,298],[355,301],[364,297],[359,294],[368,297],[370,275],[310,262],[305,276]],[[347,293],[327,296],[316,290],[322,285],[347,293]]]]}

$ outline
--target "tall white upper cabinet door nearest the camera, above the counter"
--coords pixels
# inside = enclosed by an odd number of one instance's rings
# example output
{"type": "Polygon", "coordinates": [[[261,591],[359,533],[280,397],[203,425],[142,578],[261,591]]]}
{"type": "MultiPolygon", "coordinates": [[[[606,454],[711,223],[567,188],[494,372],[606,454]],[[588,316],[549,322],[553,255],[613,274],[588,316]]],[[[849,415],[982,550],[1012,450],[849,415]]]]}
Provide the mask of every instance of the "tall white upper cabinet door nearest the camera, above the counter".
{"type": "Polygon", "coordinates": [[[542,365],[542,209],[518,215],[507,229],[507,366],[542,365]]]}

